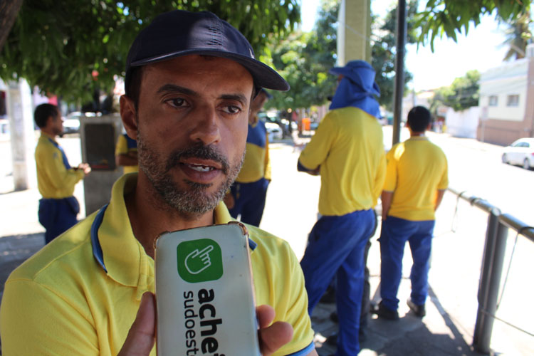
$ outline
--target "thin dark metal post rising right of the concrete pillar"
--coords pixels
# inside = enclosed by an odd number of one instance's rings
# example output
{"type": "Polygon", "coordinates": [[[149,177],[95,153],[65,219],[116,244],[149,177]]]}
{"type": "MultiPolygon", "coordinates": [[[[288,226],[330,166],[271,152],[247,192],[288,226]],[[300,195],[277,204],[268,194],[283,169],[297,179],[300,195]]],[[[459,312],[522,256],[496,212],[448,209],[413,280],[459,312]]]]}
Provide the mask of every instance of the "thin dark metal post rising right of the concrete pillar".
{"type": "Polygon", "coordinates": [[[404,94],[404,54],[406,52],[406,33],[406,0],[399,0],[397,6],[397,58],[395,61],[393,145],[400,141],[402,96],[404,94]]]}

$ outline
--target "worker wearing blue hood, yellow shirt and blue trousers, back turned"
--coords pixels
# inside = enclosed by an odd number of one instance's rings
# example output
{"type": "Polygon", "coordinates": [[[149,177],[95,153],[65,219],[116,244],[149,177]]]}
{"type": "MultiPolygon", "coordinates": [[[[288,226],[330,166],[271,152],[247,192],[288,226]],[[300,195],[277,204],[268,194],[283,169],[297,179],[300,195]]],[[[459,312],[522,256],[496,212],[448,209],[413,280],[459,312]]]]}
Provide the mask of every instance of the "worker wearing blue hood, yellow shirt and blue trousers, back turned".
{"type": "Polygon", "coordinates": [[[300,265],[310,315],[336,277],[336,355],[354,356],[360,352],[364,251],[375,227],[372,208],[382,191],[386,160],[375,70],[365,61],[350,61],[330,73],[340,78],[330,112],[298,159],[298,170],[321,176],[321,217],[300,265]]]}

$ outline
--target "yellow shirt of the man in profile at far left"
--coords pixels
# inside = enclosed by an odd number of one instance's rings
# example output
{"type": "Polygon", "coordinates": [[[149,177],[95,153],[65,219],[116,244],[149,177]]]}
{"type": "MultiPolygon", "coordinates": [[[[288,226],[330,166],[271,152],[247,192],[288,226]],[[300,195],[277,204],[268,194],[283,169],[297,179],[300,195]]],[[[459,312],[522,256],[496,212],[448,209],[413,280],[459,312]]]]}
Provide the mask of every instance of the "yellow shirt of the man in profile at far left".
{"type": "Polygon", "coordinates": [[[67,169],[61,150],[53,142],[56,142],[53,137],[41,132],[35,149],[39,193],[45,199],[72,197],[76,183],[80,182],[85,174],[79,169],[67,169]]]}

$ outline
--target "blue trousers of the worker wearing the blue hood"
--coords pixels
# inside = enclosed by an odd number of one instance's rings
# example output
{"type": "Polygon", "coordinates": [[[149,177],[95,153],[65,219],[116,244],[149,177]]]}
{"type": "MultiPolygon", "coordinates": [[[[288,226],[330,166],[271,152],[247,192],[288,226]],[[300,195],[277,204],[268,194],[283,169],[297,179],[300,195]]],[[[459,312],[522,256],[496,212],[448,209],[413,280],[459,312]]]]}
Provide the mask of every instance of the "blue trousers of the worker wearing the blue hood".
{"type": "Polygon", "coordinates": [[[336,277],[336,305],[340,330],[337,356],[360,352],[358,332],[364,284],[365,245],[375,226],[372,210],[354,211],[343,216],[323,216],[313,226],[302,266],[308,313],[336,277]]]}

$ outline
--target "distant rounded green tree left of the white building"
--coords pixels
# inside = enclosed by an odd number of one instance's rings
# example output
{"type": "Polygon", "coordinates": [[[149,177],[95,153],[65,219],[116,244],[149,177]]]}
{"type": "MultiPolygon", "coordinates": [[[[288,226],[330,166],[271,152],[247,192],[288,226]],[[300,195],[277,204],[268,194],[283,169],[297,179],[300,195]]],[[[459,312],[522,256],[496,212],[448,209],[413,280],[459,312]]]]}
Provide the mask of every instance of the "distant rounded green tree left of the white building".
{"type": "Polygon", "coordinates": [[[478,70],[469,70],[463,77],[454,79],[448,87],[436,90],[430,103],[431,112],[435,113],[441,105],[453,108],[455,111],[477,106],[479,97],[478,80],[480,80],[478,70]]]}

